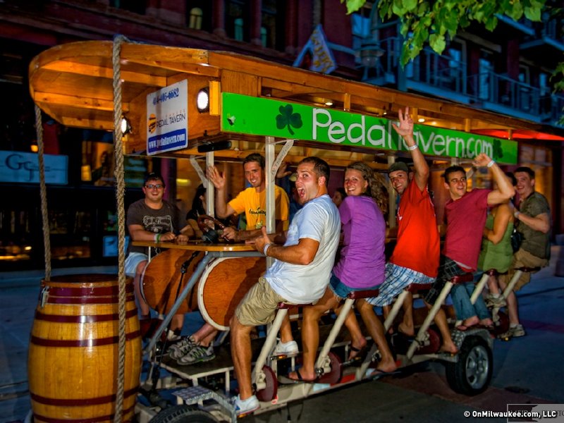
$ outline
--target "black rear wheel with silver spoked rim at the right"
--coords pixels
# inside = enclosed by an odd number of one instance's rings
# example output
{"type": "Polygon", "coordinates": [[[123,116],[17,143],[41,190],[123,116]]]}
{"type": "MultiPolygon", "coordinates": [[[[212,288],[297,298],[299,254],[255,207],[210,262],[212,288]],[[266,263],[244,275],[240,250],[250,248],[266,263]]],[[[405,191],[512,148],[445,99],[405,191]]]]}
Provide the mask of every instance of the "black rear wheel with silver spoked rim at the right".
{"type": "Polygon", "coordinates": [[[486,390],[493,367],[491,348],[479,336],[462,342],[457,362],[446,363],[446,380],[453,391],[474,396],[486,390]]]}

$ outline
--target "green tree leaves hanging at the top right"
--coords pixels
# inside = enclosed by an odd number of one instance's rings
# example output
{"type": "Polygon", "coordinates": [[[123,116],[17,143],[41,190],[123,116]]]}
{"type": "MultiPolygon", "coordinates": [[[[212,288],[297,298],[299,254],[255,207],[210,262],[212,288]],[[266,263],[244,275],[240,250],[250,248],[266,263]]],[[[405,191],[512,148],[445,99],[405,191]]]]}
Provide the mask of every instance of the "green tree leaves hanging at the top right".
{"type": "MultiPolygon", "coordinates": [[[[353,13],[366,0],[341,0],[341,3],[346,3],[347,13],[353,13]]],[[[441,54],[448,39],[474,22],[493,31],[498,25],[496,15],[513,20],[525,16],[540,21],[545,4],[546,0],[379,0],[377,7],[381,20],[400,20],[400,32],[405,39],[401,63],[405,65],[427,43],[441,54]]]]}

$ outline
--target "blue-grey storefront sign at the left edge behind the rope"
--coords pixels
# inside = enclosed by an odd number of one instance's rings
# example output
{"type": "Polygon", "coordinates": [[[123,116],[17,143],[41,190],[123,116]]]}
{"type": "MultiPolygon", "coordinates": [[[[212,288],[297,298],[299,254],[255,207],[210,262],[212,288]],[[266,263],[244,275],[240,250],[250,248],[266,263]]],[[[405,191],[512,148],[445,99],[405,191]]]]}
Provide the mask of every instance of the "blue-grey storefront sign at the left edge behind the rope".
{"type": "MultiPolygon", "coordinates": [[[[44,154],[45,183],[68,183],[68,157],[44,154]]],[[[36,153],[0,151],[0,182],[39,183],[36,153]]]]}

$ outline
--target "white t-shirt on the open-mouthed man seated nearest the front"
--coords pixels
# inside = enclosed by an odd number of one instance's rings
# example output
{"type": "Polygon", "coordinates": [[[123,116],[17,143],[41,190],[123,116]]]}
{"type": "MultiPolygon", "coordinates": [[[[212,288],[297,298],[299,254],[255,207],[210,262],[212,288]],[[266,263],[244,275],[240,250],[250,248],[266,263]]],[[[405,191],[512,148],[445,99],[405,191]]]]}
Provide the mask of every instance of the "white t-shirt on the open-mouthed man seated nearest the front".
{"type": "Polygon", "coordinates": [[[341,218],[329,195],[321,195],[298,210],[288,228],[286,245],[297,245],[300,238],[319,242],[310,264],[290,264],[275,260],[264,277],[286,301],[307,304],[319,300],[329,285],[331,269],[341,234],[341,218]]]}

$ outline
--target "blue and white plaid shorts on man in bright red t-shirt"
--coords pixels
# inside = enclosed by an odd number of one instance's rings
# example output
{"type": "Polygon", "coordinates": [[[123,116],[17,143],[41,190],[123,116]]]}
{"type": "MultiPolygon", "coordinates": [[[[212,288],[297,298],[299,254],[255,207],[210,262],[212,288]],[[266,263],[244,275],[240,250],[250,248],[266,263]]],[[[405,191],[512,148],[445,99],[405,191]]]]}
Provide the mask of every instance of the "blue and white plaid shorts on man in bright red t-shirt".
{"type": "Polygon", "coordinates": [[[366,298],[369,304],[383,307],[391,305],[401,291],[412,283],[433,283],[435,278],[422,274],[407,267],[397,264],[386,264],[386,280],[380,286],[380,293],[377,297],[366,298]]]}

